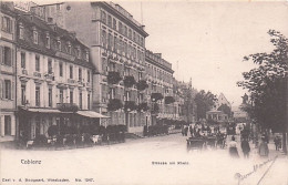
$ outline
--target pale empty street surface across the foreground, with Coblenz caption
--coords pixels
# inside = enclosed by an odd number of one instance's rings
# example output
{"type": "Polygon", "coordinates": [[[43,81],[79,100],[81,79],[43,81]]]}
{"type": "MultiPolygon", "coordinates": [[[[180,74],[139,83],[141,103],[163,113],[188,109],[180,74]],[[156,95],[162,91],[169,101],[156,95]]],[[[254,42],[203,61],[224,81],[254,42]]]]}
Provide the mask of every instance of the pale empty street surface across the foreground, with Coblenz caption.
{"type": "MultiPolygon", "coordinates": [[[[251,147],[254,147],[251,145],[251,147]]],[[[270,147],[270,158],[279,154],[270,147]]],[[[238,147],[239,148],[239,147],[238,147]]],[[[17,151],[3,150],[1,157],[1,177],[13,178],[93,178],[96,184],[237,184],[236,173],[245,175],[254,171],[254,166],[267,160],[259,158],[255,151],[249,160],[233,160],[225,150],[206,150],[186,152],[186,137],[171,134],[126,143],[76,148],[66,151],[17,151]],[[9,155],[9,157],[8,157],[9,155]],[[22,164],[21,160],[41,161],[37,164],[22,164]],[[30,168],[33,168],[31,173],[30,168]],[[50,171],[53,168],[54,171],[50,171]],[[19,174],[6,174],[18,169],[19,174]],[[37,169],[37,171],[35,171],[37,169]],[[48,173],[49,172],[49,173],[48,173]],[[148,178],[147,178],[148,176],[148,178]]],[[[266,176],[271,162],[259,167],[240,184],[287,183],[287,158],[278,157],[266,176]]],[[[9,184],[9,183],[3,183],[9,184]]],[[[11,184],[11,183],[10,183],[11,184]]],[[[13,184],[13,183],[12,183],[13,184]]],[[[37,184],[37,183],[35,183],[37,184]]],[[[84,183],[83,183],[84,184],[84,183]]],[[[14,185],[14,184],[13,184],[14,185]]]]}

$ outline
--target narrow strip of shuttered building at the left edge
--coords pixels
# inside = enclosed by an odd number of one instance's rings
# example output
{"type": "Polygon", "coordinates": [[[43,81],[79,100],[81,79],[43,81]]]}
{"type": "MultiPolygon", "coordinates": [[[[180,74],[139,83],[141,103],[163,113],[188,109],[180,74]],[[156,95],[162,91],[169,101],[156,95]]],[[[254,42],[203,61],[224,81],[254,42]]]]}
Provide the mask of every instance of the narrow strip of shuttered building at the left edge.
{"type": "Polygon", "coordinates": [[[0,2],[0,142],[16,138],[16,13],[0,2]]]}

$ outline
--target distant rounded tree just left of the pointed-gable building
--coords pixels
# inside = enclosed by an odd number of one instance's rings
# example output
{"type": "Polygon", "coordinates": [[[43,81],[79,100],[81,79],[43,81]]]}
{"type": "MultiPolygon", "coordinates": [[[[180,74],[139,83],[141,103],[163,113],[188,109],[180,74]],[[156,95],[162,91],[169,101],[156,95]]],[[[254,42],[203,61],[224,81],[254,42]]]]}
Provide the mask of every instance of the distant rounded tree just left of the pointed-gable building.
{"type": "Polygon", "coordinates": [[[214,95],[212,92],[205,92],[204,90],[200,90],[196,96],[195,96],[195,103],[197,105],[197,116],[198,119],[205,119],[206,112],[209,111],[214,105],[216,101],[216,95],[214,95]]]}

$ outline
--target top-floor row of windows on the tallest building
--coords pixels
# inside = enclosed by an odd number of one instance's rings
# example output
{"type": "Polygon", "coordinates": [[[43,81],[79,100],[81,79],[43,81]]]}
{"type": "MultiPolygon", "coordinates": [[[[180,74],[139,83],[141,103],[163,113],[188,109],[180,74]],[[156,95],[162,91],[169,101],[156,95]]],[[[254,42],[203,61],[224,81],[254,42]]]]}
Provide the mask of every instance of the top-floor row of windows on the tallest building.
{"type": "Polygon", "coordinates": [[[140,34],[137,34],[135,31],[133,31],[131,28],[122,23],[121,21],[116,21],[115,18],[112,18],[110,14],[106,17],[106,12],[101,12],[101,20],[110,28],[117,30],[121,34],[125,35],[130,40],[133,40],[141,47],[144,47],[144,38],[140,34]]]}

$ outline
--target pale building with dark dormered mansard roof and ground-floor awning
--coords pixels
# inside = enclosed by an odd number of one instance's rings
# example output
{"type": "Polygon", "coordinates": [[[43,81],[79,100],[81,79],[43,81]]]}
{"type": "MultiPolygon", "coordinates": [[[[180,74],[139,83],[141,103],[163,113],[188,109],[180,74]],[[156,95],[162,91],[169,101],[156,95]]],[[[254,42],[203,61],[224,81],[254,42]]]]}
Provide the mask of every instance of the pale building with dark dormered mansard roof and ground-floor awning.
{"type": "Polygon", "coordinates": [[[68,32],[31,12],[16,10],[19,133],[48,136],[51,125],[88,124],[92,107],[90,51],[68,32]]]}

